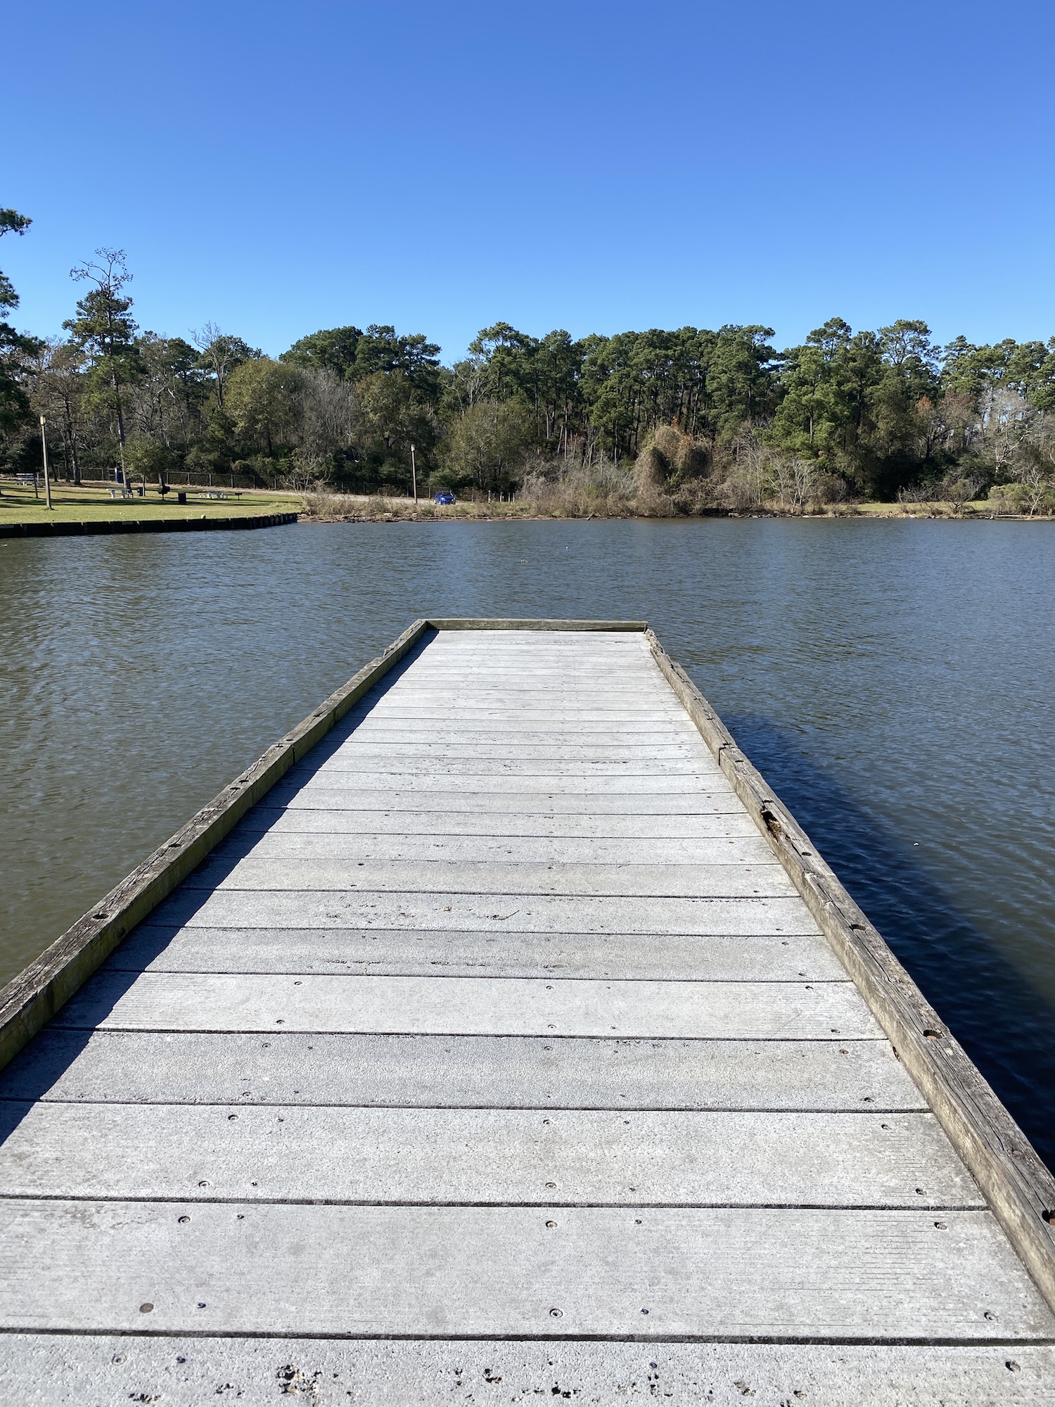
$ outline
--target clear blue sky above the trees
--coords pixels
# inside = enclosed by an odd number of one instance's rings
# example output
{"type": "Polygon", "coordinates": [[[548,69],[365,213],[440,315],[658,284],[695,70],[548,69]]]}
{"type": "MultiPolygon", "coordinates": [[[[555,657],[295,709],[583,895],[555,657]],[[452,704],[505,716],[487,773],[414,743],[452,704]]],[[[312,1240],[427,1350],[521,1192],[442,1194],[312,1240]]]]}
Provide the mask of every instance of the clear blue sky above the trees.
{"type": "Polygon", "coordinates": [[[277,353],[840,314],[1055,333],[1055,7],[56,0],[4,17],[15,325],[128,252],[145,328],[277,353]]]}

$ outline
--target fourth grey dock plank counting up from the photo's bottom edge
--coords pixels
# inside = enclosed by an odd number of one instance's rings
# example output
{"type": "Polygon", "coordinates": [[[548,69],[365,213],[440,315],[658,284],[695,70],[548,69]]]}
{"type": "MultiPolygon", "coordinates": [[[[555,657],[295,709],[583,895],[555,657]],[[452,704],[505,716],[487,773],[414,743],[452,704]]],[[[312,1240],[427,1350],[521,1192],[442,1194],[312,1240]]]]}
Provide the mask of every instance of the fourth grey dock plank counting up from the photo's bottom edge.
{"type": "Polygon", "coordinates": [[[885,1041],[77,1031],[51,1027],[8,1099],[432,1109],[896,1113],[926,1103],[885,1041]]]}

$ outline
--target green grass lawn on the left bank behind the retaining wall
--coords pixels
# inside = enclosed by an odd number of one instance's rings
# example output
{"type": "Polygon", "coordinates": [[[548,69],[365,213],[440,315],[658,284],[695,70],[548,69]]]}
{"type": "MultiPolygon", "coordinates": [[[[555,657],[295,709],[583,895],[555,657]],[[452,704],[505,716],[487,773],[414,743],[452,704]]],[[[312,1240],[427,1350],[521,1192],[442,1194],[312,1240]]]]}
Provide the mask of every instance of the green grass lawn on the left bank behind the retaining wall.
{"type": "MultiPolygon", "coordinates": [[[[257,490],[242,491],[241,498],[207,498],[205,490],[188,488],[187,502],[176,502],[176,490],[162,498],[155,490],[148,490],[145,498],[111,498],[106,488],[87,485],[75,488],[72,484],[52,484],[52,511],[44,501],[44,487],[39,498],[32,488],[14,480],[0,480],[0,523],[35,522],[117,522],[148,518],[245,518],[253,514],[298,512],[298,494],[269,494],[257,490]]],[[[218,488],[214,492],[231,494],[218,488]]]]}

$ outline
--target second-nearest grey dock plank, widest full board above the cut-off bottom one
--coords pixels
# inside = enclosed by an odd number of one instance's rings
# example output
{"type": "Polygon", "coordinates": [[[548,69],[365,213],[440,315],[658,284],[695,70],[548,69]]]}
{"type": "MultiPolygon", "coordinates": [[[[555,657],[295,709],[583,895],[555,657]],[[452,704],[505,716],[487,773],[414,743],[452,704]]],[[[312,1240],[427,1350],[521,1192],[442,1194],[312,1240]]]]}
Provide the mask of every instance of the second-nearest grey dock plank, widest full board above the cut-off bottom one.
{"type": "Polygon", "coordinates": [[[1052,1327],[987,1211],[21,1197],[0,1199],[0,1317],[378,1338],[1014,1344],[1052,1327]]]}

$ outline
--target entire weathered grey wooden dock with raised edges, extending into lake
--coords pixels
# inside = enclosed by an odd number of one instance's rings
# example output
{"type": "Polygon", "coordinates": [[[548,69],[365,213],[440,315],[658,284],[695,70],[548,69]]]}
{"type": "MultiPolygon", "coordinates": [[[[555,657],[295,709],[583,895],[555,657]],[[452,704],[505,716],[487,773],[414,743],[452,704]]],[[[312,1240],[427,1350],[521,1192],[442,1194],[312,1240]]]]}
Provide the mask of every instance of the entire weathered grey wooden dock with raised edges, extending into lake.
{"type": "Polygon", "coordinates": [[[1055,1399],[1055,1183],[640,623],[416,622],[0,1061],[3,1403],[1055,1399]]]}

